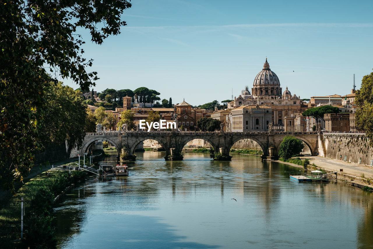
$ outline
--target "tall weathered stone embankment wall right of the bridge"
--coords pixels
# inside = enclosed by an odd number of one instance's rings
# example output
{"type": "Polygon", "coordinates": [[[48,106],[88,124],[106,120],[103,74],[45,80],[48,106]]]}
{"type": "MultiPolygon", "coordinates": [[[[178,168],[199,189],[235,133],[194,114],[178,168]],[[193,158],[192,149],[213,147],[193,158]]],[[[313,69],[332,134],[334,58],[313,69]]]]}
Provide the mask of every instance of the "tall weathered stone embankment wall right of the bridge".
{"type": "Polygon", "coordinates": [[[326,158],[371,166],[373,147],[365,133],[324,133],[326,158]]]}

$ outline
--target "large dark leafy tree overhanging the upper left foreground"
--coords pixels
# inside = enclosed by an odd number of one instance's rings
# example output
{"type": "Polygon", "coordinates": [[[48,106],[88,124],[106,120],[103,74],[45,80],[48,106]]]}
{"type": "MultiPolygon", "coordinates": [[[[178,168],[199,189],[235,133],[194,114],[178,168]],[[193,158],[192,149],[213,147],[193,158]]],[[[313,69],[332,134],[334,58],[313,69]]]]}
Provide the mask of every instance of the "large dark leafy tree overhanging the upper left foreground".
{"type": "Polygon", "coordinates": [[[1,2],[0,169],[1,179],[10,179],[5,189],[28,174],[33,152],[43,147],[39,131],[49,82],[70,78],[87,91],[98,79],[87,72],[93,63],[82,56],[85,41],[77,33],[87,29],[91,41],[102,44],[126,25],[121,15],[129,7],[126,0],[1,2]]]}

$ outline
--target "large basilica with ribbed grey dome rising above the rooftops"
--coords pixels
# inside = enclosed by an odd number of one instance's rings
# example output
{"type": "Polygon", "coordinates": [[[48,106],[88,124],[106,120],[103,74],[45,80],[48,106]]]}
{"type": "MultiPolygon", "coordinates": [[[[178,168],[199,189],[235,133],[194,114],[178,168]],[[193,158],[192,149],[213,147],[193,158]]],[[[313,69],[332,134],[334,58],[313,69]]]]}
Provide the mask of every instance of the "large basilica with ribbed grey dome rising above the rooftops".
{"type": "Polygon", "coordinates": [[[266,59],[263,70],[254,79],[251,93],[248,87],[241,91],[241,94],[232,102],[228,103],[228,109],[235,109],[239,106],[259,106],[271,108],[273,125],[284,124],[285,116],[299,113],[307,109],[307,103],[300,100],[295,94],[292,96],[288,87],[282,92],[280,80],[273,72],[266,59]]]}

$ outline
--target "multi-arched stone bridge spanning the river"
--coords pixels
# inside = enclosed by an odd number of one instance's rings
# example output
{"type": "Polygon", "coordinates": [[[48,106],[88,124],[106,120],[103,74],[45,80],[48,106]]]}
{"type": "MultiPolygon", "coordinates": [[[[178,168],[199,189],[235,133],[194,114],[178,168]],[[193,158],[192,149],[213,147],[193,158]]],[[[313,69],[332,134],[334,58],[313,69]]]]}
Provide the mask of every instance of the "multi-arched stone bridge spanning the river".
{"type": "Polygon", "coordinates": [[[96,142],[109,141],[115,146],[118,156],[122,148],[128,152],[129,158],[134,160],[135,150],[139,143],[147,139],[159,142],[168,156],[180,155],[186,143],[193,139],[203,139],[211,144],[215,152],[229,157],[229,151],[234,143],[249,138],[256,141],[263,150],[262,159],[278,159],[280,143],[286,135],[302,140],[310,149],[311,155],[317,155],[317,132],[134,132],[115,131],[87,133],[79,151],[85,153],[96,142]]]}

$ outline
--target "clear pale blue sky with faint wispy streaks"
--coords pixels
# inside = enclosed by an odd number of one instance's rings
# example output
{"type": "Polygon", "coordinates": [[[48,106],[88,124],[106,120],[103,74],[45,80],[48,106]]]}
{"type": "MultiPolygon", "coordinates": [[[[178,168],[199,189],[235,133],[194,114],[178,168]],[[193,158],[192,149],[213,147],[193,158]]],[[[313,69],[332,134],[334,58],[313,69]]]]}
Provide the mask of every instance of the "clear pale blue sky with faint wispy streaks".
{"type": "Polygon", "coordinates": [[[348,94],[353,74],[360,88],[372,72],[372,0],[131,3],[120,35],[101,46],[85,36],[95,91],[148,87],[173,103],[222,101],[232,88],[251,91],[266,56],[283,90],[302,99],[348,94]]]}

